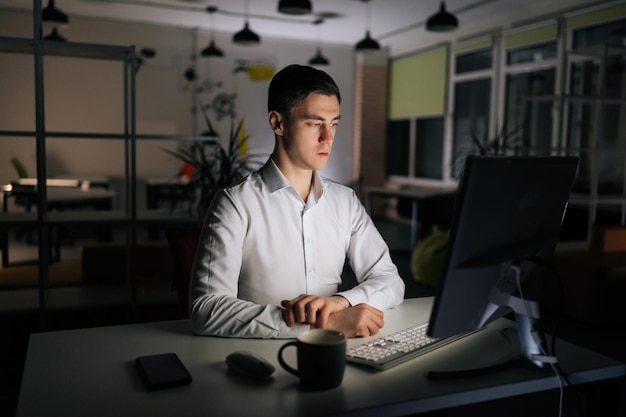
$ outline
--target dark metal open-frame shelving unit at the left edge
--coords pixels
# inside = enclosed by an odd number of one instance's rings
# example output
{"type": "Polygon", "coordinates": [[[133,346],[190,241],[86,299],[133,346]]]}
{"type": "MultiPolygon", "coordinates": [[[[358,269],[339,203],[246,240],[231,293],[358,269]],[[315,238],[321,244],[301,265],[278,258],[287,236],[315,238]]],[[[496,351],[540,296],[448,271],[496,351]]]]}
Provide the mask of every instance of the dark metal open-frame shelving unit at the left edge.
{"type": "MultiPolygon", "coordinates": [[[[32,56],[34,72],[34,130],[8,130],[0,126],[0,140],[3,137],[20,138],[20,140],[34,140],[36,148],[37,184],[46,184],[46,143],[54,139],[107,139],[123,142],[124,181],[120,200],[121,207],[106,211],[71,211],[49,212],[46,207],[49,202],[46,186],[37,187],[36,201],[38,204],[32,212],[0,212],[0,245],[8,245],[4,239],[10,227],[37,228],[38,239],[38,269],[39,269],[39,310],[42,313],[42,327],[45,327],[45,313],[49,305],[49,265],[54,261],[51,258],[51,237],[55,230],[63,225],[89,224],[96,226],[111,226],[125,231],[127,249],[126,282],[129,283],[129,300],[131,311],[138,303],[138,283],[136,282],[135,249],[137,247],[137,229],[139,226],[162,227],[169,224],[198,223],[199,219],[186,211],[172,212],[167,209],[138,210],[137,205],[137,175],[136,175],[136,144],[139,140],[163,141],[199,141],[206,137],[192,135],[140,135],[136,132],[136,54],[134,46],[116,46],[77,42],[58,42],[41,39],[42,1],[33,0],[33,38],[0,37],[0,53],[20,54],[32,56]],[[123,125],[113,132],[85,132],[85,131],[51,131],[46,127],[45,113],[45,86],[47,57],[67,59],[91,59],[107,62],[119,62],[123,72],[122,85],[112,85],[111,88],[121,88],[123,99],[120,107],[123,109],[123,125]]],[[[2,63],[0,62],[0,65],[2,63]]],[[[8,256],[3,256],[3,262],[8,256]]],[[[132,316],[132,314],[131,314],[132,316]]]]}

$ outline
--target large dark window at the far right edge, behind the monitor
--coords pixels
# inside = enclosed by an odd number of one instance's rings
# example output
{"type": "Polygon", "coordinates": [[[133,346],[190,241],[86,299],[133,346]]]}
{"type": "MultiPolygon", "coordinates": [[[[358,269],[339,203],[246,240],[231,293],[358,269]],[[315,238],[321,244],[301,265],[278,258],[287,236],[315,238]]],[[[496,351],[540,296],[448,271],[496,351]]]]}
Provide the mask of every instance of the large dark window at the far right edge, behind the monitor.
{"type": "Polygon", "coordinates": [[[590,224],[626,223],[626,3],[572,13],[565,19],[569,41],[561,140],[580,156],[576,195],[587,204],[572,213],[590,224]]]}

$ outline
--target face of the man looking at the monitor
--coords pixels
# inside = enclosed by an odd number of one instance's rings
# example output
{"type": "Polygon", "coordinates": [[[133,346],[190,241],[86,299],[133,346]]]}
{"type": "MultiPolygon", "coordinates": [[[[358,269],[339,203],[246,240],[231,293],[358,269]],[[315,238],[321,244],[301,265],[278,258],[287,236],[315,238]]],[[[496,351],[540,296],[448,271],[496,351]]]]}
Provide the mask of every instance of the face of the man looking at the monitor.
{"type": "Polygon", "coordinates": [[[282,118],[283,146],[295,168],[326,167],[339,118],[337,97],[317,93],[309,94],[282,118]]]}

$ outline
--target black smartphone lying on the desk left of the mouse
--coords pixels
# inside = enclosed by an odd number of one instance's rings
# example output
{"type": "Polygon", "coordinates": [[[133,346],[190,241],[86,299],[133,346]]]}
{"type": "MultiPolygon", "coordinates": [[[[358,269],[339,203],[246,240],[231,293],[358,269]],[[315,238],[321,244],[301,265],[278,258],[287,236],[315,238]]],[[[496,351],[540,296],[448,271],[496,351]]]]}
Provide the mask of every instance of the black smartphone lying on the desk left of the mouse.
{"type": "Polygon", "coordinates": [[[175,353],[140,356],[135,366],[148,389],[167,388],[191,383],[192,377],[175,353]]]}

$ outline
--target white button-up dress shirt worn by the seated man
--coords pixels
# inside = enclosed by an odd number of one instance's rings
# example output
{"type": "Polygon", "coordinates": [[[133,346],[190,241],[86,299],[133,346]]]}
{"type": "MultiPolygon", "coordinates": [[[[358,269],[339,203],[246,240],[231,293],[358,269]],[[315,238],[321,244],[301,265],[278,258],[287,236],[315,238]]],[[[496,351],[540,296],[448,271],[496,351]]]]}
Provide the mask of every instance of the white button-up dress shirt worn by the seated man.
{"type": "Polygon", "coordinates": [[[340,294],[380,310],[400,304],[404,282],[354,191],[314,174],[306,202],[269,159],[223,190],[207,211],[190,284],[201,335],[290,338],[281,300],[340,294]],[[346,256],[357,281],[337,293],[346,256]]]}

